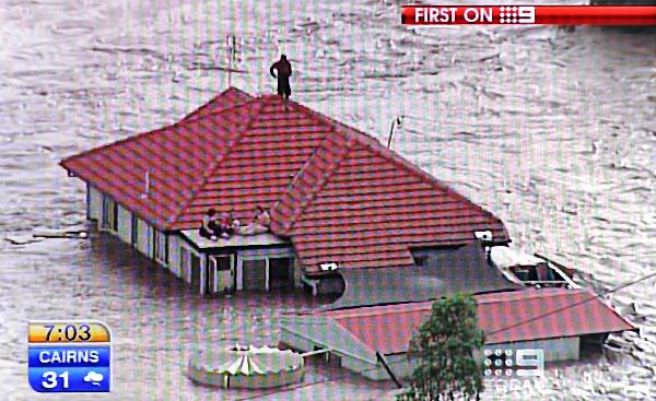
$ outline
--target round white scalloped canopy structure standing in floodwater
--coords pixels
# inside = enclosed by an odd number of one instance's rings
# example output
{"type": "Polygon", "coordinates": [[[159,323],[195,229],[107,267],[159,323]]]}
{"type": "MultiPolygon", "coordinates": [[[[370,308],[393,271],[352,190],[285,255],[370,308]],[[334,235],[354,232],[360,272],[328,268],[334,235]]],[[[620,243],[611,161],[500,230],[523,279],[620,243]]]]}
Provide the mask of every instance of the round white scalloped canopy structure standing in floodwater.
{"type": "Polygon", "coordinates": [[[262,389],[303,380],[303,356],[293,351],[239,344],[218,351],[199,351],[187,367],[195,382],[223,388],[262,389]]]}

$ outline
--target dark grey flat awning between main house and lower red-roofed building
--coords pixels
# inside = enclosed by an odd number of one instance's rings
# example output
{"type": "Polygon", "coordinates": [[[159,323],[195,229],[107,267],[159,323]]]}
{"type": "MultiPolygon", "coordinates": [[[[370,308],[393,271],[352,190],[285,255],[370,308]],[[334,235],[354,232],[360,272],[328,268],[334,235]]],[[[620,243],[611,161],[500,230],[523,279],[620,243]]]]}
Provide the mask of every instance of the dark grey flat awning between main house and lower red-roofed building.
{"type": "Polygon", "coordinates": [[[522,288],[488,262],[479,241],[426,251],[422,256],[426,258],[423,267],[339,270],[345,290],[328,309],[430,300],[456,293],[482,294],[522,288]]]}

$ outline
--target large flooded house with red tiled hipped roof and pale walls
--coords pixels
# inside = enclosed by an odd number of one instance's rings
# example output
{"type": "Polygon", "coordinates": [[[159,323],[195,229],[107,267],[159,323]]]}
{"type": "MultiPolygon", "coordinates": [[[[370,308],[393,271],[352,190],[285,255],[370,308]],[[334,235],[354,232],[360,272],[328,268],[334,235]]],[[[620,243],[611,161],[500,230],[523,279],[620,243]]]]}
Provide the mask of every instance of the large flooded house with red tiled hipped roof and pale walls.
{"type": "Polygon", "coordinates": [[[342,271],[407,269],[509,241],[504,224],[376,139],[296,103],[231,87],[177,123],[61,162],[87,217],[201,294],[344,290],[342,271]],[[209,209],[270,232],[204,238],[209,209]]]}

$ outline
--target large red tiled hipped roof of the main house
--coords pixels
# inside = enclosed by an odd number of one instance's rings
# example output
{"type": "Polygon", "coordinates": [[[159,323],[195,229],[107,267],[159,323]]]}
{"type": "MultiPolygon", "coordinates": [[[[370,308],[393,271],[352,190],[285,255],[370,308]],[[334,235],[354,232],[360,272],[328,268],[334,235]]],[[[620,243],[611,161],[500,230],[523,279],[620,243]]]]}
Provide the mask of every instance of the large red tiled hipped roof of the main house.
{"type": "Polygon", "coordinates": [[[509,240],[499,219],[374,138],[236,89],[61,165],[163,231],[196,228],[209,208],[239,219],[269,208],[273,233],[291,238],[308,271],[412,266],[411,247],[467,244],[476,231],[509,240]]]}

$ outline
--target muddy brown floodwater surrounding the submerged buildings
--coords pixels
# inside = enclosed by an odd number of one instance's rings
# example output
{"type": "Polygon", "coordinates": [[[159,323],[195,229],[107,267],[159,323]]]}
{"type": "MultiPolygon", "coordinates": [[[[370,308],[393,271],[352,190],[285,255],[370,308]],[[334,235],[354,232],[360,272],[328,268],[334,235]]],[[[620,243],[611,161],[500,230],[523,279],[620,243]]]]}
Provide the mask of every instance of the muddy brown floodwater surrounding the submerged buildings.
{"type": "MultiPolygon", "coordinates": [[[[233,74],[234,85],[271,91],[268,63],[285,51],[304,104],[382,141],[406,115],[393,148],[496,213],[529,251],[567,261],[599,288],[656,268],[653,32],[409,31],[398,15],[389,1],[2,2],[2,236],[83,226],[83,188],[57,162],[172,122],[223,90],[223,37],[233,33],[247,71],[233,74]]],[[[108,399],[243,399],[258,394],[188,382],[185,355],[221,341],[274,343],[281,312],[316,306],[296,295],[199,299],[96,235],[0,241],[0,389],[9,400],[89,399],[32,392],[28,319],[107,321],[116,337],[108,399]]],[[[637,303],[644,317],[635,321],[654,333],[655,293],[643,283],[613,300],[637,303]]],[[[532,398],[655,399],[654,371],[644,367],[655,358],[559,367],[532,398]]],[[[311,366],[306,381],[325,382],[269,398],[382,399],[393,389],[324,366],[311,366]]]]}

